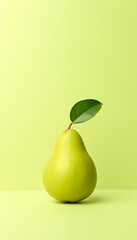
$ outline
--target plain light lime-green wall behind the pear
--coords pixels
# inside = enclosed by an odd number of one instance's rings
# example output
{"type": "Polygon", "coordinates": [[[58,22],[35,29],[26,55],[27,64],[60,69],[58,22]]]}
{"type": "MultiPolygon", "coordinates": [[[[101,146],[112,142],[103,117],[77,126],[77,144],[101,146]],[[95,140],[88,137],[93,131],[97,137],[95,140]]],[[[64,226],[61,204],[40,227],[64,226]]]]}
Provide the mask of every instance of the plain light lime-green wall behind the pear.
{"type": "Polygon", "coordinates": [[[98,188],[137,188],[137,1],[2,0],[0,189],[43,189],[42,169],[72,105],[98,188]]]}

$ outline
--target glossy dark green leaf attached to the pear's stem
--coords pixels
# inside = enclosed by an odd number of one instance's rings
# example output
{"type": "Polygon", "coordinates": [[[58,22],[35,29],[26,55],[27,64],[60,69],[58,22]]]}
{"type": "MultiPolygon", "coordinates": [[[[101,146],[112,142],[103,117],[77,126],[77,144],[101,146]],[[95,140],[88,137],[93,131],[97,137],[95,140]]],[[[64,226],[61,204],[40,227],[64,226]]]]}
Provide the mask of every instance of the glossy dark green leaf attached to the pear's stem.
{"type": "Polygon", "coordinates": [[[73,124],[88,121],[101,109],[102,103],[94,99],[77,102],[70,111],[70,120],[73,124]]]}

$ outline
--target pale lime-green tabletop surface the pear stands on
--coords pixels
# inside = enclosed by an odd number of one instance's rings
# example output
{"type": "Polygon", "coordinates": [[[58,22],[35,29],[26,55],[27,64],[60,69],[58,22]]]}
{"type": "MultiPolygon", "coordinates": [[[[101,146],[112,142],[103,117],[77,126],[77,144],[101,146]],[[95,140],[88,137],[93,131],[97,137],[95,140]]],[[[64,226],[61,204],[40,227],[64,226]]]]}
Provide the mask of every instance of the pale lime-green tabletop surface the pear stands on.
{"type": "Polygon", "coordinates": [[[136,223],[136,190],[97,190],[79,204],[45,191],[0,192],[1,240],[137,239],[136,223]]]}

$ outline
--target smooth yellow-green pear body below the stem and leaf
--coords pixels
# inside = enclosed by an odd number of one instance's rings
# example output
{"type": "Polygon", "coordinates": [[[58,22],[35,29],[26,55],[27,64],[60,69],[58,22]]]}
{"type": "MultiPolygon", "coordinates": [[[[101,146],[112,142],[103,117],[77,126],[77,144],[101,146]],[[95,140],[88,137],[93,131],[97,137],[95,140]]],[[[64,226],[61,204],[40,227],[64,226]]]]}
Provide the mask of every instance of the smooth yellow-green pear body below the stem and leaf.
{"type": "Polygon", "coordinates": [[[77,131],[63,131],[43,171],[47,192],[62,202],[87,198],[97,182],[95,165],[77,131]]]}

